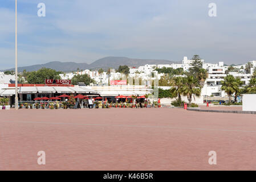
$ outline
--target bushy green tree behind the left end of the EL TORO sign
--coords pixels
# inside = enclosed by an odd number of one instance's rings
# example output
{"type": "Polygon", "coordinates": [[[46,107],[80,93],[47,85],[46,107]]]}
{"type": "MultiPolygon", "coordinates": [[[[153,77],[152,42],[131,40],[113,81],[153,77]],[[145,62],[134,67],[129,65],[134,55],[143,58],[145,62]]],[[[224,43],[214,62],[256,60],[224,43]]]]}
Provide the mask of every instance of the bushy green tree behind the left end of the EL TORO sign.
{"type": "Polygon", "coordinates": [[[41,68],[38,71],[27,73],[27,82],[29,84],[44,84],[46,79],[60,80],[60,73],[62,72],[57,72],[54,69],[41,68]]]}

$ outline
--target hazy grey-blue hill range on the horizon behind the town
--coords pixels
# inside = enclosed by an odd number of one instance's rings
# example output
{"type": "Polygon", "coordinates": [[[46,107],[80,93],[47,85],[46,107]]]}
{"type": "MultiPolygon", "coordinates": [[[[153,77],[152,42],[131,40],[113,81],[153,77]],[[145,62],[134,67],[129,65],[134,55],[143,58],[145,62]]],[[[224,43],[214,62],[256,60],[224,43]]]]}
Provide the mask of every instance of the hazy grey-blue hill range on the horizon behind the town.
{"type": "MultiPolygon", "coordinates": [[[[51,61],[46,64],[35,64],[27,67],[18,67],[18,72],[22,72],[24,69],[26,71],[37,71],[40,68],[51,68],[56,71],[76,71],[79,69],[97,69],[97,68],[118,68],[119,65],[128,65],[129,67],[139,67],[145,64],[172,64],[176,63],[169,60],[156,60],[156,59],[131,59],[128,57],[104,57],[102,59],[96,60],[91,64],[87,63],[75,63],[75,62],[60,62],[51,61]]],[[[3,71],[15,70],[15,68],[5,69],[3,71]]]]}

